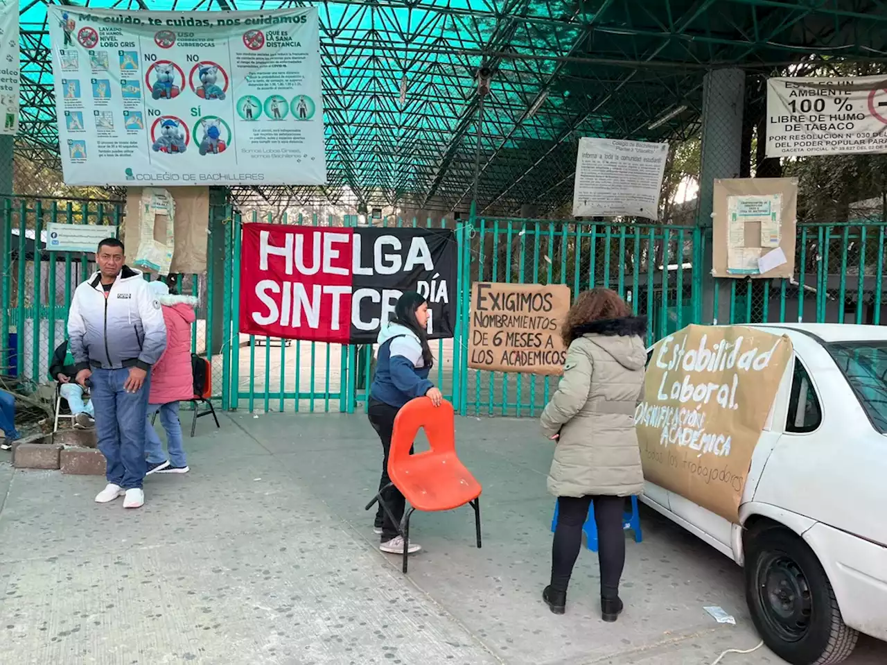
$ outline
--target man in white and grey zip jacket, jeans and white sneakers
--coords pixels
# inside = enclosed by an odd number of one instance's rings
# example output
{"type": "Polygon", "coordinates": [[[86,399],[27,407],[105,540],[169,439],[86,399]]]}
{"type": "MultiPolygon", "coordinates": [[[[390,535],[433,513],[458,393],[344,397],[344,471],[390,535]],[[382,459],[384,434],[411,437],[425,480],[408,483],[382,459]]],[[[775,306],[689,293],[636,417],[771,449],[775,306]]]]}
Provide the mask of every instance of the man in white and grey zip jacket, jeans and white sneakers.
{"type": "Polygon", "coordinates": [[[118,496],[124,508],[145,503],[145,418],[151,367],[166,348],[161,305],[137,270],[123,265],[123,243],[107,238],[96,250],[98,273],[77,287],[68,313],[69,347],[78,384],[91,384],[98,449],[108,485],[98,503],[118,496]]]}

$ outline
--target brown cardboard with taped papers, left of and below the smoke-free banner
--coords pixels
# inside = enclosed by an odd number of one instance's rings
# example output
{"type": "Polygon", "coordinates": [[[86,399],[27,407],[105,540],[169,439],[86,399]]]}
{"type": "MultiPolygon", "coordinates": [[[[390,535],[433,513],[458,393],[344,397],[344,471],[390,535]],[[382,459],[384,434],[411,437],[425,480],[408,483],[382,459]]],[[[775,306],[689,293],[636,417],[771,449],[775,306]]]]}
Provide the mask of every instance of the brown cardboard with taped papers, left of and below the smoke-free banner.
{"type": "Polygon", "coordinates": [[[797,178],[716,179],[711,274],[789,279],[795,272],[797,178]]]}

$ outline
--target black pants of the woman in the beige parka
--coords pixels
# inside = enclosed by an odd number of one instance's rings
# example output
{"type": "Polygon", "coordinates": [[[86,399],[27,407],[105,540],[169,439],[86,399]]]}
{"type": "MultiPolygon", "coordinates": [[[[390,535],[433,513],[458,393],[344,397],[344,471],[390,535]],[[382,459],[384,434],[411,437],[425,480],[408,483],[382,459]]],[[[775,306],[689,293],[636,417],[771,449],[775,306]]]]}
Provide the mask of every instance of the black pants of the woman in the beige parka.
{"type": "Polygon", "coordinates": [[[582,548],[582,526],[588,518],[588,507],[594,502],[594,522],[598,527],[600,597],[616,598],[619,578],[625,566],[625,534],[622,528],[624,497],[559,496],[557,502],[557,527],[552,545],[553,590],[567,590],[569,577],[582,548]]]}

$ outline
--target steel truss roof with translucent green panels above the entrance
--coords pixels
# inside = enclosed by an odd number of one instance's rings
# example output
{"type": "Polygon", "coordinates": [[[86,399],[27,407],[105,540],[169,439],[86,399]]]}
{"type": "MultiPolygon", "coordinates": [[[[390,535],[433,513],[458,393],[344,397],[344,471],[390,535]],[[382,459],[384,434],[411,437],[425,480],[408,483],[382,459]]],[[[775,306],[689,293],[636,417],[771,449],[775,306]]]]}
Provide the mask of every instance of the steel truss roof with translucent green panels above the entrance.
{"type": "MultiPolygon", "coordinates": [[[[256,192],[303,205],[467,210],[476,160],[478,210],[551,209],[572,195],[580,136],[695,134],[712,67],[771,74],[811,57],[887,56],[884,0],[57,2],[210,12],[316,4],[329,182],[256,192]]],[[[16,150],[57,165],[45,3],[21,0],[20,14],[16,150]]]]}

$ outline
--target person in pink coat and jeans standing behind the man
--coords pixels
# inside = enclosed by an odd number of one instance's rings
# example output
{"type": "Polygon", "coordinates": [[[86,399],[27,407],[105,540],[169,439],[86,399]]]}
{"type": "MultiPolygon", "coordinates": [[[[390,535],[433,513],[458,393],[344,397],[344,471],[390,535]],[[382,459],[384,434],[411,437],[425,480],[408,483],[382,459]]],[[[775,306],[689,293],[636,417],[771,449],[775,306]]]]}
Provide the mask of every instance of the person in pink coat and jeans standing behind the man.
{"type": "Polygon", "coordinates": [[[197,319],[194,308],[197,298],[170,295],[162,281],[149,285],[153,296],[163,308],[167,326],[166,351],[151,370],[151,393],[148,397],[148,417],[145,420],[145,457],[148,473],[187,473],[188,463],[182,447],[182,424],[178,421],[179,400],[194,396],[191,371],[191,326],[197,319]],[[161,412],[161,424],[167,435],[169,458],[163,454],[163,444],[151,423],[151,416],[161,412]]]}

